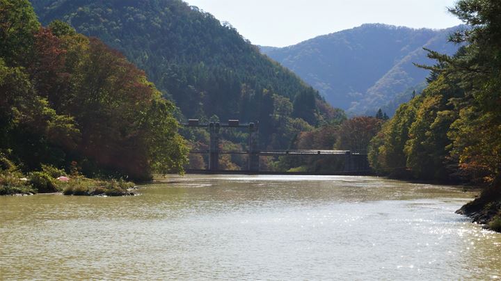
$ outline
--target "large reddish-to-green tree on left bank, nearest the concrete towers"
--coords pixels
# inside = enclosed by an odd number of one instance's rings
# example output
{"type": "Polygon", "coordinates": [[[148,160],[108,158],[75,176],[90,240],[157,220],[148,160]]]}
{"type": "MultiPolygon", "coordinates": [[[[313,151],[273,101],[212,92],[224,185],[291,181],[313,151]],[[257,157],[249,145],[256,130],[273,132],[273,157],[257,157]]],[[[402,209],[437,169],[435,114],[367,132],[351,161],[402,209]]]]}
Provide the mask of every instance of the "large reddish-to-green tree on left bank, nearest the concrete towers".
{"type": "Polygon", "coordinates": [[[187,150],[173,104],[117,51],[97,39],[88,44],[74,70],[79,75],[69,105],[81,127],[81,153],[134,179],[181,172],[187,150]]]}

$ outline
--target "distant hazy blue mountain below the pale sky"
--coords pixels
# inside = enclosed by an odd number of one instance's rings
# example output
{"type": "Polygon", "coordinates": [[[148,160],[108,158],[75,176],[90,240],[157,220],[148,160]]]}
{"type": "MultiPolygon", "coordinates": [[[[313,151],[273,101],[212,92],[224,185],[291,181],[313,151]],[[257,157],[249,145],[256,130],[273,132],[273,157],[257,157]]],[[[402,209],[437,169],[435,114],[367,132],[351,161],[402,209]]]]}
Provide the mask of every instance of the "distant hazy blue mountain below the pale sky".
{"type": "Polygon", "coordinates": [[[456,29],[364,24],[298,45],[261,47],[261,50],[289,67],[319,90],[327,102],[341,109],[373,115],[386,106],[392,114],[395,106],[388,102],[404,91],[412,93],[414,89],[422,89],[418,85],[424,82],[428,72],[413,65],[431,63],[422,48],[454,54],[458,47],[447,42],[447,38],[456,29]]]}

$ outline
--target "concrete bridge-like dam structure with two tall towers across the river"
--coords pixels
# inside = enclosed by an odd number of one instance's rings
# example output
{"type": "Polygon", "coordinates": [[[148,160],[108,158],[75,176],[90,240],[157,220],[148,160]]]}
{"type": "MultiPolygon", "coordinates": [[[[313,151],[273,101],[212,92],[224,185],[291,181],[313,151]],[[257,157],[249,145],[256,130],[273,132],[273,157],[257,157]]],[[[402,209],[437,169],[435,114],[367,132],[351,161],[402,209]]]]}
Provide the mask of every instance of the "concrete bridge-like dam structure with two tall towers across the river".
{"type": "MultiPolygon", "coordinates": [[[[209,130],[210,145],[208,150],[192,150],[193,154],[209,154],[209,172],[223,172],[219,170],[220,154],[247,154],[247,171],[250,173],[260,173],[260,156],[285,156],[285,155],[305,155],[305,156],[325,156],[331,155],[342,157],[344,169],[333,171],[333,174],[353,174],[357,172],[368,172],[370,170],[367,163],[367,154],[351,152],[350,150],[271,150],[262,151],[258,148],[259,123],[240,124],[239,120],[228,120],[228,123],[209,122],[201,124],[198,119],[190,119],[188,123],[182,124],[184,127],[196,127],[209,130]],[[219,145],[221,128],[243,128],[248,130],[248,150],[223,151],[219,145]]],[[[242,171],[240,171],[242,172],[242,171]]],[[[245,172],[245,171],[244,171],[245,172]]]]}

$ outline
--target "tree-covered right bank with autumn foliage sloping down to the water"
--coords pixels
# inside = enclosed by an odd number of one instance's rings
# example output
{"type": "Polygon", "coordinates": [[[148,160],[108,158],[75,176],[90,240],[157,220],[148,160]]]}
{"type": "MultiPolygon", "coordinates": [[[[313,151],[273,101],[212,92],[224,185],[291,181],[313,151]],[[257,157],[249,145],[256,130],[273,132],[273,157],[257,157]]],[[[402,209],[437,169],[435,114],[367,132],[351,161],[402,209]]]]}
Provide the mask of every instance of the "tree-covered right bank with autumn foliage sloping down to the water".
{"type": "Polygon", "coordinates": [[[465,45],[429,51],[427,88],[383,125],[369,161],[393,177],[488,184],[461,212],[501,231],[501,3],[461,0],[451,12],[472,26],[451,38],[465,45]]]}

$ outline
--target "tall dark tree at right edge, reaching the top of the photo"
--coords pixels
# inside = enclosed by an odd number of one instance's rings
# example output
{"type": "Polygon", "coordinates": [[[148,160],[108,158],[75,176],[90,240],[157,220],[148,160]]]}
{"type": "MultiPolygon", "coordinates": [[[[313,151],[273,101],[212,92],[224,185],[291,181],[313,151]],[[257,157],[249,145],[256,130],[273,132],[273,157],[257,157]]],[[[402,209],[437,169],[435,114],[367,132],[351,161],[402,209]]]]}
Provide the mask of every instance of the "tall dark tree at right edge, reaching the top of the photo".
{"type": "Polygon", "coordinates": [[[492,182],[501,177],[501,3],[461,0],[451,13],[472,26],[452,35],[466,43],[454,57],[429,51],[444,67],[431,69],[461,81],[465,95],[454,102],[459,118],[452,123],[452,156],[464,172],[492,182]]]}

